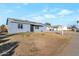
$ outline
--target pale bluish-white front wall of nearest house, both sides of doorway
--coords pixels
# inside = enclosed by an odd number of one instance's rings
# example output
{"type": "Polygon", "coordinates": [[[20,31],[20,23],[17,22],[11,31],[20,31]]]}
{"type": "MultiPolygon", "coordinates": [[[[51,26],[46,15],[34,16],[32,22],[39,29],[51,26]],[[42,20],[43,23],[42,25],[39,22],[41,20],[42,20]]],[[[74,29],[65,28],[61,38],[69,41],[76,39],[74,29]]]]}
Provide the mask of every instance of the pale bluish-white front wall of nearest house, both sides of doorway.
{"type": "MultiPolygon", "coordinates": [[[[35,29],[34,32],[45,32],[46,27],[39,27],[39,29],[35,29]]],[[[8,33],[19,33],[19,32],[30,32],[30,24],[23,24],[22,29],[18,29],[18,23],[8,22],[8,33]]]]}

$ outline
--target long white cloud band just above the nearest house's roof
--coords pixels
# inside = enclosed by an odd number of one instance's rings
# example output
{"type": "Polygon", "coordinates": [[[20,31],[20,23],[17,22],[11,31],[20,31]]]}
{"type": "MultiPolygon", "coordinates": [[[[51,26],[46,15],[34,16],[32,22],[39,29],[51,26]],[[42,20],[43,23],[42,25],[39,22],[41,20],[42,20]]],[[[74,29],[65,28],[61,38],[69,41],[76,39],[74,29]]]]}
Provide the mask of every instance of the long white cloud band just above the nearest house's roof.
{"type": "Polygon", "coordinates": [[[31,20],[34,22],[41,22],[41,23],[44,23],[46,21],[49,21],[55,18],[56,16],[53,14],[25,15],[25,16],[20,17],[20,19],[23,19],[23,20],[31,20]]]}

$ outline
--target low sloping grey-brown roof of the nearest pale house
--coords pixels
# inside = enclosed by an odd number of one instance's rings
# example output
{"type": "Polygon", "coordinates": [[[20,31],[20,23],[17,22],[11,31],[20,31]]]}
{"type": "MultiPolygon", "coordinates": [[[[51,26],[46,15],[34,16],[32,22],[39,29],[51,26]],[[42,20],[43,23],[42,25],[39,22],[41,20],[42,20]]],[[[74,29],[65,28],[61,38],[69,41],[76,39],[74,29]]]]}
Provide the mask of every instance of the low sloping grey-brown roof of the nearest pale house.
{"type": "Polygon", "coordinates": [[[15,19],[15,18],[7,18],[6,24],[8,24],[8,21],[10,21],[10,22],[12,22],[12,23],[33,24],[33,25],[44,25],[44,24],[38,23],[38,22],[32,22],[32,21],[28,21],[28,20],[15,19]]]}

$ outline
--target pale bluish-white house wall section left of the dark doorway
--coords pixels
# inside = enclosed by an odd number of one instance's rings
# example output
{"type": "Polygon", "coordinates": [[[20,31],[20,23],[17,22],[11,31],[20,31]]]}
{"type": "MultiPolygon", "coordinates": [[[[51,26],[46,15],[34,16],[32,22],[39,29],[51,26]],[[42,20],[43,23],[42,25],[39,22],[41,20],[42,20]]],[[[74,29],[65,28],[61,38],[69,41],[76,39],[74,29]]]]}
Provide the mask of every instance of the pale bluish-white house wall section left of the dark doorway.
{"type": "Polygon", "coordinates": [[[8,33],[30,32],[30,24],[23,24],[22,29],[18,29],[18,23],[8,22],[8,33]]]}

